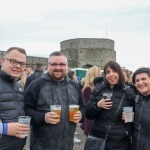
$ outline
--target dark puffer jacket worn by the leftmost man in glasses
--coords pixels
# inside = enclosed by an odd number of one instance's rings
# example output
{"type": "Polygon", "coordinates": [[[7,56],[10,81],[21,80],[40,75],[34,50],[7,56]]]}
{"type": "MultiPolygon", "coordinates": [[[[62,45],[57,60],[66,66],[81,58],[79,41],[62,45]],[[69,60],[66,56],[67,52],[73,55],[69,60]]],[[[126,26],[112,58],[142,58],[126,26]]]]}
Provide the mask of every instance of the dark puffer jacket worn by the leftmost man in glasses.
{"type": "MultiPolygon", "coordinates": [[[[24,98],[21,86],[0,70],[0,118],[3,123],[18,122],[18,116],[24,115],[24,98]]],[[[22,150],[26,139],[3,135],[0,150],[22,150]]]]}

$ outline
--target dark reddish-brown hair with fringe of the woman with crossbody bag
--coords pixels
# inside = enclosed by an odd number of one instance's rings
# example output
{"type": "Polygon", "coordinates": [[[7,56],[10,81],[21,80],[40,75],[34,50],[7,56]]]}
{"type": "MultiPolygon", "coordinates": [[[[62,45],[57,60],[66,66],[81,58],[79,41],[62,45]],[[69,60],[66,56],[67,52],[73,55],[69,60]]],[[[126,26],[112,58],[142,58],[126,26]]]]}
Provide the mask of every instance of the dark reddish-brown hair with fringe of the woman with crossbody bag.
{"type": "Polygon", "coordinates": [[[117,62],[112,61],[112,60],[107,62],[106,65],[104,66],[104,76],[106,76],[106,70],[107,70],[108,67],[110,67],[111,69],[113,69],[114,71],[116,71],[119,74],[119,81],[118,82],[122,86],[124,86],[125,78],[124,78],[121,66],[117,62]]]}

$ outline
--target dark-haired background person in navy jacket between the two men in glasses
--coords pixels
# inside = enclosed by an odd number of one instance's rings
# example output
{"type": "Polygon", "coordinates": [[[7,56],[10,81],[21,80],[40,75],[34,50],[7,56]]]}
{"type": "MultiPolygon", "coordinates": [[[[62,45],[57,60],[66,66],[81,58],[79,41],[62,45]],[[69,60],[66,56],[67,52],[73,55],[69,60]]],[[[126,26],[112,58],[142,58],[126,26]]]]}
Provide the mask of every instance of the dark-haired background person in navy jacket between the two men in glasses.
{"type": "Polygon", "coordinates": [[[34,73],[32,73],[30,76],[28,76],[26,78],[26,83],[25,83],[25,87],[24,90],[27,89],[27,87],[29,86],[29,84],[37,79],[38,77],[40,77],[43,74],[43,64],[40,62],[37,62],[34,66],[34,73]]]}

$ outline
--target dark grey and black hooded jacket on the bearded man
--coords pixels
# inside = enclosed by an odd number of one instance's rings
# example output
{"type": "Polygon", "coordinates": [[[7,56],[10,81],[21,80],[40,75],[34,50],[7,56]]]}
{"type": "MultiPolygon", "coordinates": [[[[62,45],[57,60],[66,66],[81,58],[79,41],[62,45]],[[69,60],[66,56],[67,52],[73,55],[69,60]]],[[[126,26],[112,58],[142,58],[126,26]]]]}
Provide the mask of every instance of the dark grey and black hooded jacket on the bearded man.
{"type": "Polygon", "coordinates": [[[53,80],[48,73],[34,80],[25,92],[25,112],[31,116],[31,150],[72,150],[76,123],[69,121],[69,104],[79,104],[84,114],[81,90],[66,77],[53,80]],[[61,105],[60,123],[45,122],[50,105],[61,105]]]}

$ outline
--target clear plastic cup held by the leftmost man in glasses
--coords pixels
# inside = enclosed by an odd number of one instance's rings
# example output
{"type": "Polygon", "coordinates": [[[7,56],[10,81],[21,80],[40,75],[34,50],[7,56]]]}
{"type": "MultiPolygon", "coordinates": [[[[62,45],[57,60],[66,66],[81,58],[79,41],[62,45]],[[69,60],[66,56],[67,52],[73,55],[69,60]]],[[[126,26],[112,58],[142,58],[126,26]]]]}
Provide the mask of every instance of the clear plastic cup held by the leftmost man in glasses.
{"type": "MultiPolygon", "coordinates": [[[[21,124],[27,124],[28,126],[30,126],[30,121],[31,121],[31,117],[30,116],[19,116],[18,117],[18,122],[21,124]]],[[[27,137],[28,134],[23,134],[23,137],[27,137]]]]}

